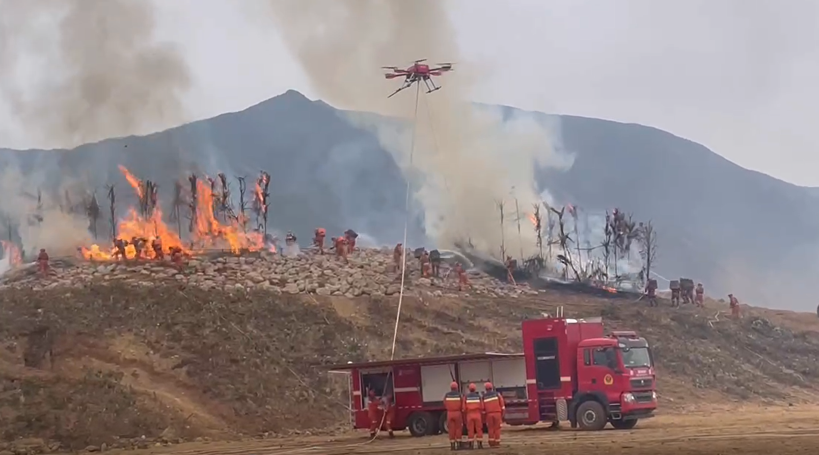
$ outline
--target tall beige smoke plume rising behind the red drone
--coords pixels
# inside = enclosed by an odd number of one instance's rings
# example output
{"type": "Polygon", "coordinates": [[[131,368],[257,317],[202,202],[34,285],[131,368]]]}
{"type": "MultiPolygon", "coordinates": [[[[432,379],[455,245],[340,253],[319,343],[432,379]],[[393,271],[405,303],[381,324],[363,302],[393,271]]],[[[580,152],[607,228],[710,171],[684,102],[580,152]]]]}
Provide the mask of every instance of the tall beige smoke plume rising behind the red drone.
{"type": "MultiPolygon", "coordinates": [[[[475,246],[497,255],[502,230],[507,239],[517,238],[510,207],[514,197],[523,208],[540,200],[533,169],[536,163],[554,164],[550,134],[532,119],[504,119],[501,112],[476,110],[466,101],[476,77],[489,74],[461,58],[445,2],[269,0],[268,5],[269,17],[314,89],[342,109],[416,118],[415,88],[387,99],[401,81],[387,81],[379,68],[406,67],[425,57],[433,65],[455,61],[455,71],[436,79],[443,89],[420,94],[411,166],[407,128],[373,124],[366,115],[358,121],[369,119],[365,126],[376,128],[382,145],[413,181],[427,231],[439,246],[471,237],[475,246]],[[496,208],[500,200],[507,203],[503,228],[496,208]]],[[[525,231],[531,253],[534,234],[525,231]]]]}

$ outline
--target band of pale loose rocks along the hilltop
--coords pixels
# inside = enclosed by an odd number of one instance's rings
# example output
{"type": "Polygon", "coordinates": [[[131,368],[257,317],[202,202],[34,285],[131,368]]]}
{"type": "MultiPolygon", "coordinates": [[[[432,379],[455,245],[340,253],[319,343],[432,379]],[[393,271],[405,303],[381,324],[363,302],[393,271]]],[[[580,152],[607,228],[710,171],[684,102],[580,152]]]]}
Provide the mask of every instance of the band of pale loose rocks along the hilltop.
{"type": "MultiPolygon", "coordinates": [[[[528,286],[509,286],[476,270],[469,271],[470,289],[458,291],[455,273],[447,275],[444,265],[441,277],[421,277],[418,259],[407,257],[405,284],[414,294],[455,296],[487,295],[515,297],[537,295],[528,286]]],[[[284,257],[257,252],[245,257],[215,253],[184,261],[176,267],[169,261],[129,260],[93,262],[60,259],[52,271],[42,277],[34,264],[17,268],[2,279],[6,287],[34,290],[61,287],[84,288],[100,282],[122,282],[129,286],[156,286],[174,283],[182,288],[197,286],[205,290],[242,291],[258,289],[273,295],[310,293],[316,295],[395,295],[400,291],[400,272],[392,259],[391,250],[356,249],[343,259],[335,255],[314,253],[284,257]]]]}

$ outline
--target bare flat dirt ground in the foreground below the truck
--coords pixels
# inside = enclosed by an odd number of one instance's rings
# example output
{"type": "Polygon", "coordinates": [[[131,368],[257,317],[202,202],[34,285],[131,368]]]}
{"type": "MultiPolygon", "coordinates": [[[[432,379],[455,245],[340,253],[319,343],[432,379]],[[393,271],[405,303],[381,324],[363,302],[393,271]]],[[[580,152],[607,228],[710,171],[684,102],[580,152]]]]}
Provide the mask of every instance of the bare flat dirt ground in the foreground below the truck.
{"type": "MultiPolygon", "coordinates": [[[[662,415],[629,431],[547,430],[545,426],[506,428],[501,448],[491,453],[562,453],[611,455],[776,454],[816,453],[817,406],[715,408],[709,412],[662,415]]],[[[301,437],[234,443],[191,443],[154,447],[156,455],[343,455],[346,453],[448,453],[446,436],[396,439],[371,443],[361,434],[333,438],[301,437]]]]}

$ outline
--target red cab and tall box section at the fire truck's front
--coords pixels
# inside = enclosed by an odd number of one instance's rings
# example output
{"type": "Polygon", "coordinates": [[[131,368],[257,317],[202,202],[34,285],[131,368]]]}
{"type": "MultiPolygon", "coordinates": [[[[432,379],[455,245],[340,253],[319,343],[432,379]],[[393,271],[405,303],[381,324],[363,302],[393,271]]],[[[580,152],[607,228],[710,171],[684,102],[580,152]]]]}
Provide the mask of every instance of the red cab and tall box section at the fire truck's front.
{"type": "MultiPolygon", "coordinates": [[[[600,318],[524,321],[527,394],[540,421],[582,430],[631,429],[657,408],[654,361],[633,331],[604,336],[600,318]]],[[[513,423],[513,422],[509,422],[513,423]]]]}

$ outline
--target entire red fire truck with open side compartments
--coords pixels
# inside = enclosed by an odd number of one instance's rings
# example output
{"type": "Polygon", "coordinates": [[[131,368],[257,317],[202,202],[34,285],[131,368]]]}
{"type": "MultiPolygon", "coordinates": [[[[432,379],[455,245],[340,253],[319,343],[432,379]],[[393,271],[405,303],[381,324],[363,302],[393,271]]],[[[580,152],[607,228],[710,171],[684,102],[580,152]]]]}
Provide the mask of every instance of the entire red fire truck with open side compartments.
{"type": "Polygon", "coordinates": [[[654,363],[632,331],[605,336],[603,321],[542,318],[522,324],[523,354],[460,354],[329,367],[350,375],[351,419],[368,428],[369,390],[395,403],[394,430],[446,432],[443,397],[455,381],[482,390],[491,381],[506,402],[505,422],[569,421],[572,428],[631,429],[657,408],[654,363]]]}

